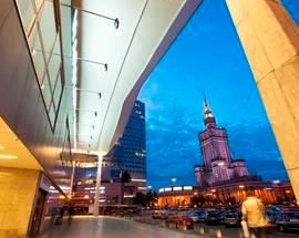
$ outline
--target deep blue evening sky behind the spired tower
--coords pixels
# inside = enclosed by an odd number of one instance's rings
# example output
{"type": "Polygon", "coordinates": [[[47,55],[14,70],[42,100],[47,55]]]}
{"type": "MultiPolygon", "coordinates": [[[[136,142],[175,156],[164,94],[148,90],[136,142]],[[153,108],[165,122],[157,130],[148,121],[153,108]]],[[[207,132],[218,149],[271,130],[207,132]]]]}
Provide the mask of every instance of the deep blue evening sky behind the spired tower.
{"type": "MultiPolygon", "coordinates": [[[[283,1],[290,12],[299,9],[298,0],[283,1]]],[[[218,125],[227,128],[235,158],[245,158],[250,174],[288,179],[225,0],[208,0],[138,96],[146,104],[148,185],[169,186],[173,177],[179,185],[195,183],[204,94],[218,125]]]]}

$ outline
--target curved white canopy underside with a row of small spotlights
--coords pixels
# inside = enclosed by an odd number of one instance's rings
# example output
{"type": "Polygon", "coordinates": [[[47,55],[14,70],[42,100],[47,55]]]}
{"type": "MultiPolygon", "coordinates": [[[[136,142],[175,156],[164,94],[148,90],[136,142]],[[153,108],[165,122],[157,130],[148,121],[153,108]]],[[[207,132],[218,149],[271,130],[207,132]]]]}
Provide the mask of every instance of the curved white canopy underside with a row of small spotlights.
{"type": "Polygon", "coordinates": [[[200,0],[70,3],[74,145],[106,153],[122,134],[142,84],[200,0]]]}

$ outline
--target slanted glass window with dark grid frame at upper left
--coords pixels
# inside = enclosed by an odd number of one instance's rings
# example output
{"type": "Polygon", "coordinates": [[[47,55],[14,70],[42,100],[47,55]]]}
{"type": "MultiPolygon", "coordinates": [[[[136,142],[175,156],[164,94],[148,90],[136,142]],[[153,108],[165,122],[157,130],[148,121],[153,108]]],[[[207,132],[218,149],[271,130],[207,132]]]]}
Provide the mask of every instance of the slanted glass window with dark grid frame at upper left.
{"type": "Polygon", "coordinates": [[[16,0],[48,116],[54,130],[64,86],[61,30],[53,0],[16,0]]]}

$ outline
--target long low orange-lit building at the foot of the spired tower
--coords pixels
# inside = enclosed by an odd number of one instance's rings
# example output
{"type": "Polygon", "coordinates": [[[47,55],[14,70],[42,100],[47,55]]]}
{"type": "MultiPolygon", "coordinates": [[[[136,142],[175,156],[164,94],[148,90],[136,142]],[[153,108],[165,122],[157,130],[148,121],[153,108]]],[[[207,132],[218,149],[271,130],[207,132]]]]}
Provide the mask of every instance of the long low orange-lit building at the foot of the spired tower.
{"type": "Polygon", "coordinates": [[[229,180],[226,184],[213,185],[210,187],[168,187],[161,188],[158,193],[158,207],[179,207],[195,206],[225,206],[240,205],[246,198],[249,190],[265,204],[281,204],[282,201],[295,203],[293,189],[289,182],[262,182],[258,177],[239,178],[229,180]],[[187,187],[189,189],[184,189],[187,187]],[[193,201],[194,200],[194,201],[193,201]]]}

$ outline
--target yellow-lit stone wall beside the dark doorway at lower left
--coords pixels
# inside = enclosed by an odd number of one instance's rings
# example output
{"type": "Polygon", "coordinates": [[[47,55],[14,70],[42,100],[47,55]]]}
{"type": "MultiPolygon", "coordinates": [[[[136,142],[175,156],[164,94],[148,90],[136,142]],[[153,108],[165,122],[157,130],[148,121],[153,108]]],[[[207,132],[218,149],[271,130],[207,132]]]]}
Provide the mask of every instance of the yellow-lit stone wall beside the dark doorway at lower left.
{"type": "Polygon", "coordinates": [[[0,167],[0,237],[29,236],[40,172],[0,167]]]}

